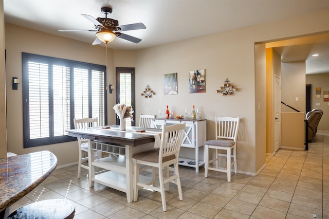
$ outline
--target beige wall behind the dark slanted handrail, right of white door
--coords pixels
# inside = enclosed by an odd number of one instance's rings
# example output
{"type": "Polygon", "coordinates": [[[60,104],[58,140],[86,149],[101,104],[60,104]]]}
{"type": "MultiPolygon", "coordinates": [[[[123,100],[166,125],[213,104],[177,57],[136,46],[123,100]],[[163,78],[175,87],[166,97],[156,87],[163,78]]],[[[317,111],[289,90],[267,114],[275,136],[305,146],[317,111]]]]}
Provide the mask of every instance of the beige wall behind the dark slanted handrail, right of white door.
{"type": "MultiPolygon", "coordinates": [[[[281,63],[281,100],[305,113],[305,62],[281,63]],[[296,97],[298,101],[296,101],[296,97]]],[[[295,112],[282,104],[282,112],[295,112]]]]}

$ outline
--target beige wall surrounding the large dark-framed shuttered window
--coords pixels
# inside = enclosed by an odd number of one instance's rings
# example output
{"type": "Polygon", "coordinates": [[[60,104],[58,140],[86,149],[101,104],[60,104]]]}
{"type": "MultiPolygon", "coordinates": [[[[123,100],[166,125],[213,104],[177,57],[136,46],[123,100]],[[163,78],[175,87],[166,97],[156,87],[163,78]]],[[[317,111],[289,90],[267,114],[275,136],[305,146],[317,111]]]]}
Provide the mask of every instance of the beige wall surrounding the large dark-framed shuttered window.
{"type": "MultiPolygon", "coordinates": [[[[42,54],[63,59],[77,60],[94,64],[105,65],[105,47],[93,46],[88,43],[61,38],[59,36],[18,27],[5,25],[6,52],[7,52],[7,121],[8,121],[8,151],[16,154],[25,154],[40,150],[49,150],[58,157],[58,165],[76,162],[78,160],[77,141],[45,145],[23,149],[23,100],[22,100],[22,52],[42,54]],[[22,41],[22,35],[24,40],[22,41]],[[20,79],[18,90],[13,90],[11,78],[20,79]]],[[[114,54],[108,49],[107,80],[114,78],[114,54]]],[[[108,84],[108,83],[107,83],[108,84]]],[[[1,93],[3,95],[3,93],[1,93]]],[[[115,104],[114,95],[107,95],[108,106],[115,104]]],[[[112,107],[108,107],[108,123],[115,122],[112,107]]],[[[3,123],[1,123],[3,124],[3,123]]]]}

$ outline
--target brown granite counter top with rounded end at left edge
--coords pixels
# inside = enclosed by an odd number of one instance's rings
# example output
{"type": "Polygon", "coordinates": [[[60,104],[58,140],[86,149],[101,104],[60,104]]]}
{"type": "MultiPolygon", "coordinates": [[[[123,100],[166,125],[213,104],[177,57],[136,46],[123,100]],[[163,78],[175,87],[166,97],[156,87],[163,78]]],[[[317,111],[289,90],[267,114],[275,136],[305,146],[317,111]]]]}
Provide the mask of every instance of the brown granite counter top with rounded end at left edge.
{"type": "Polygon", "coordinates": [[[57,166],[49,151],[0,159],[0,212],[41,184],[57,166]]]}

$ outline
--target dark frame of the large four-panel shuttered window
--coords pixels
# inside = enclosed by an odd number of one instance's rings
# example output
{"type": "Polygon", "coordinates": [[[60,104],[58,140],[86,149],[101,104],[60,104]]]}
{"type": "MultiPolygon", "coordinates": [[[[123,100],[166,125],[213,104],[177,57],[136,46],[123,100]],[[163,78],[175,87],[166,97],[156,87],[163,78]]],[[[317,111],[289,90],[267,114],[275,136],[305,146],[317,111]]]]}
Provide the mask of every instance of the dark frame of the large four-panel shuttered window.
{"type": "MultiPolygon", "coordinates": [[[[54,143],[62,143],[68,141],[75,141],[77,138],[70,137],[67,133],[64,133],[61,136],[54,136],[54,120],[53,120],[53,81],[52,81],[52,67],[53,65],[61,65],[69,67],[69,111],[65,111],[66,115],[70,115],[70,129],[74,129],[73,118],[75,118],[75,103],[74,103],[74,69],[82,68],[88,69],[88,117],[92,117],[92,71],[102,72],[104,75],[104,118],[103,125],[107,124],[107,93],[106,93],[106,66],[97,65],[92,63],[84,63],[79,61],[60,59],[48,56],[41,56],[38,54],[31,54],[22,52],[22,90],[23,90],[23,138],[24,138],[24,148],[36,147],[41,145],[48,145],[54,143]],[[29,69],[28,63],[46,63],[48,64],[48,94],[49,94],[49,137],[41,137],[36,139],[30,139],[30,124],[29,124],[29,69]]],[[[101,84],[99,84],[98,89],[101,89],[101,84]]],[[[66,120],[67,121],[67,120],[66,120]]],[[[99,124],[101,124],[99,122],[99,124]]]]}

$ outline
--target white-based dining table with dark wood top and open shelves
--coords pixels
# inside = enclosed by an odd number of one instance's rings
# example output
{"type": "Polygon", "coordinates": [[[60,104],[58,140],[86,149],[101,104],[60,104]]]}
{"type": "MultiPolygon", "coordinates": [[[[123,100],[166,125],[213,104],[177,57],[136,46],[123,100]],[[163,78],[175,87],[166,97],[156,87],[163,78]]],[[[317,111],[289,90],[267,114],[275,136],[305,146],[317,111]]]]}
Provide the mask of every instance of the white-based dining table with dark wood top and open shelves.
{"type": "Polygon", "coordinates": [[[133,202],[133,154],[153,150],[155,142],[159,142],[161,130],[132,126],[130,130],[120,131],[119,125],[109,125],[67,132],[69,136],[89,141],[89,187],[98,182],[125,192],[127,202],[133,202]],[[90,156],[96,151],[108,156],[100,159],[90,156]],[[95,167],[106,171],[97,174],[95,167]]]}

